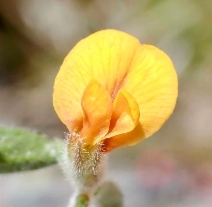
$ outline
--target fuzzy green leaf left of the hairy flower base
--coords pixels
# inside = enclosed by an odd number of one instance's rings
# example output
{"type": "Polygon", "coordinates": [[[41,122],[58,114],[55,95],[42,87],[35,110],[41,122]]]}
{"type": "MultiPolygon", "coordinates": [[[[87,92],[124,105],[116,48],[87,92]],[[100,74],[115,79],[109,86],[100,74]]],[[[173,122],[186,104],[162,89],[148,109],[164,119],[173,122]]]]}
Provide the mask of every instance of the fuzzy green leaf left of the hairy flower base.
{"type": "Polygon", "coordinates": [[[0,173],[55,164],[62,142],[24,129],[0,127],[0,173]]]}

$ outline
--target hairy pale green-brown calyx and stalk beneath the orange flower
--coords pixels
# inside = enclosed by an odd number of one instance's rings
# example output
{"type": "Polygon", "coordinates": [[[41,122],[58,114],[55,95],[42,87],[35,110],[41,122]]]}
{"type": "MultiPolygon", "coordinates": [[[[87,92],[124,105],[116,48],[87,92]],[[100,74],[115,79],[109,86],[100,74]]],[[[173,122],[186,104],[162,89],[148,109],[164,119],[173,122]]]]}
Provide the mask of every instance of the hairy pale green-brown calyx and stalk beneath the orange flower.
{"type": "Polygon", "coordinates": [[[88,206],[106,170],[106,155],[102,142],[88,145],[77,132],[66,135],[63,169],[75,188],[69,207],[88,206]],[[85,204],[79,205],[80,200],[85,204]]]}

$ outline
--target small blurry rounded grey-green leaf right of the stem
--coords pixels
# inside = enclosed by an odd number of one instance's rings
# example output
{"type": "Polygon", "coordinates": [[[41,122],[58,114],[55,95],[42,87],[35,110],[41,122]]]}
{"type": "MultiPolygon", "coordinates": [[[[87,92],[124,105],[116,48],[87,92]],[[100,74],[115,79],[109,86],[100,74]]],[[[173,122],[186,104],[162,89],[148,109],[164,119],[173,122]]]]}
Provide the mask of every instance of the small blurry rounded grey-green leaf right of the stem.
{"type": "Polygon", "coordinates": [[[118,187],[112,182],[104,182],[95,192],[97,206],[122,207],[123,196],[118,187]]]}

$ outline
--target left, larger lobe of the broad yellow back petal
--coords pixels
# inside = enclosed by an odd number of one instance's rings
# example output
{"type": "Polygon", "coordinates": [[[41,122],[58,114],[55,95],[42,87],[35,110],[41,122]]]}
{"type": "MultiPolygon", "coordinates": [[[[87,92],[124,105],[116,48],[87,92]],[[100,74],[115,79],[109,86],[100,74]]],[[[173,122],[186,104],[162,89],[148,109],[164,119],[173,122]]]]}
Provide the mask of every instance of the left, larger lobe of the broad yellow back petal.
{"type": "Polygon", "coordinates": [[[108,29],[81,40],[66,56],[55,79],[53,104],[69,131],[82,128],[81,98],[88,83],[97,80],[115,97],[138,46],[135,37],[108,29]]]}

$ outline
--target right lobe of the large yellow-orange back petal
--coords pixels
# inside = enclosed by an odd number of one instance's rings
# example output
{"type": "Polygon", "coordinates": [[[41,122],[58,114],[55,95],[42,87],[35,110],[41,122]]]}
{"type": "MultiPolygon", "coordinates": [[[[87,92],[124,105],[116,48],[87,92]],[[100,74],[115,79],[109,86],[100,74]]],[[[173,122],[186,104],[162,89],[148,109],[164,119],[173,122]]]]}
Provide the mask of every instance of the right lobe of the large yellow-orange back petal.
{"type": "Polygon", "coordinates": [[[122,87],[139,105],[139,129],[106,140],[108,149],[134,145],[151,136],[172,114],[178,81],[170,58],[150,45],[141,45],[132,60],[122,87]]]}

